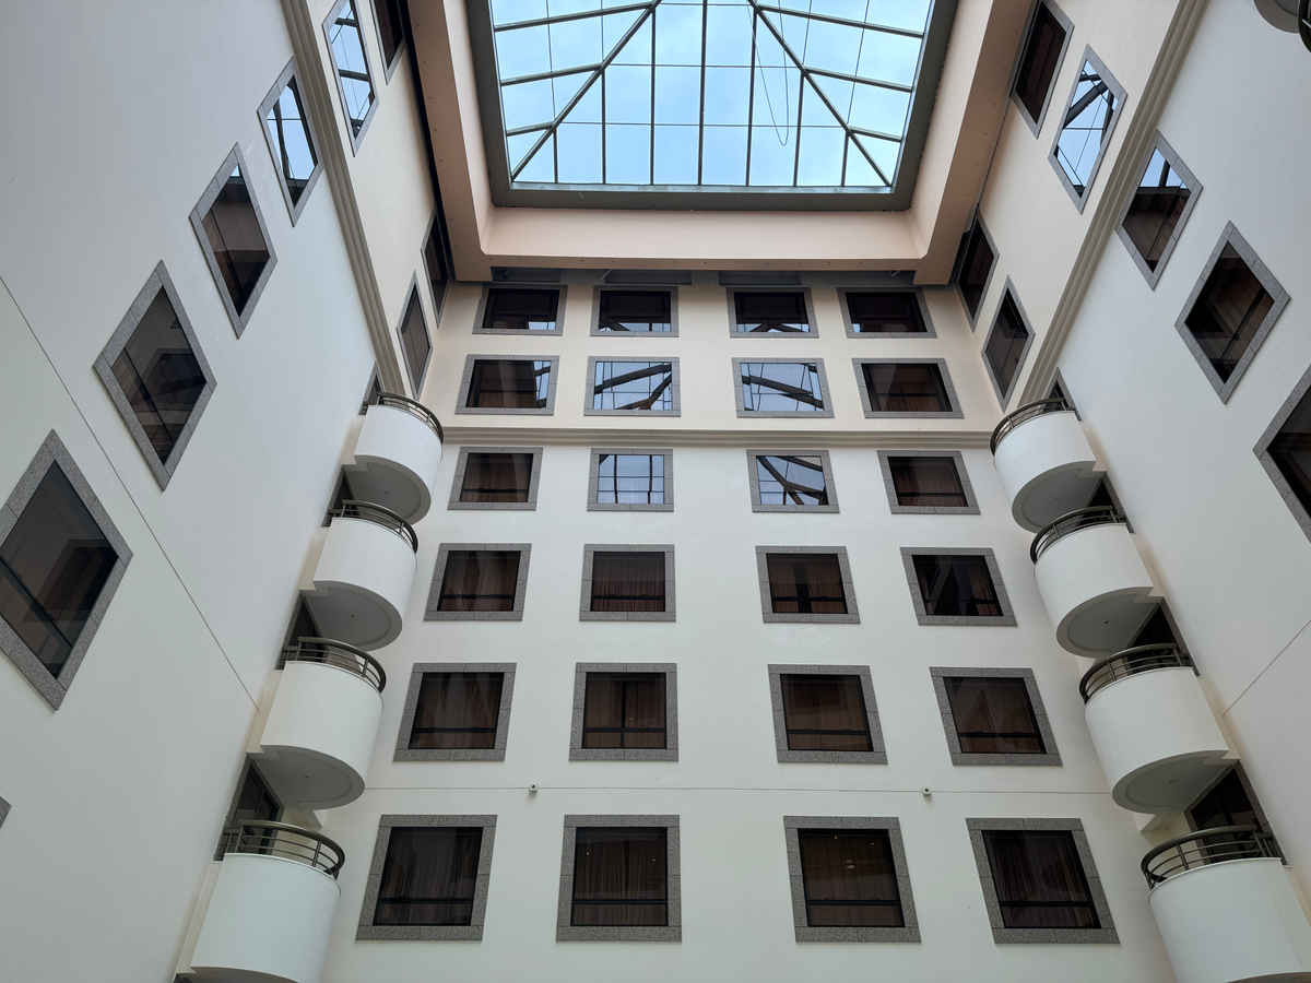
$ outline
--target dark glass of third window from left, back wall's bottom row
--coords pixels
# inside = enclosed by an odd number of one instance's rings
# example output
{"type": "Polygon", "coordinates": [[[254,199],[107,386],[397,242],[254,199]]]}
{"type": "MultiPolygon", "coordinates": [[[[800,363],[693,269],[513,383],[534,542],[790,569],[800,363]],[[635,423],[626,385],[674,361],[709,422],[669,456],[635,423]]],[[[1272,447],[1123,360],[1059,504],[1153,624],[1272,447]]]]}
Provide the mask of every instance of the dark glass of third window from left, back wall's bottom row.
{"type": "Polygon", "coordinates": [[[901,894],[886,830],[797,830],[806,923],[901,928],[901,894]]]}

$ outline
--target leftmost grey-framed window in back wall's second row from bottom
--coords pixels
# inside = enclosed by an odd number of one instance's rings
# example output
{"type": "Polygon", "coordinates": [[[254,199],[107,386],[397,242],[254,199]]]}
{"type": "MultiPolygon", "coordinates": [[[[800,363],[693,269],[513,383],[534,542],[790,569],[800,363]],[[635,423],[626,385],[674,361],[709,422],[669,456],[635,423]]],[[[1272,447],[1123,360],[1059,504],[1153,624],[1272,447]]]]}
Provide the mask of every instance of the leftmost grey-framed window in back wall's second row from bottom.
{"type": "Polygon", "coordinates": [[[514,674],[514,662],[416,662],[392,760],[503,761],[514,674]]]}

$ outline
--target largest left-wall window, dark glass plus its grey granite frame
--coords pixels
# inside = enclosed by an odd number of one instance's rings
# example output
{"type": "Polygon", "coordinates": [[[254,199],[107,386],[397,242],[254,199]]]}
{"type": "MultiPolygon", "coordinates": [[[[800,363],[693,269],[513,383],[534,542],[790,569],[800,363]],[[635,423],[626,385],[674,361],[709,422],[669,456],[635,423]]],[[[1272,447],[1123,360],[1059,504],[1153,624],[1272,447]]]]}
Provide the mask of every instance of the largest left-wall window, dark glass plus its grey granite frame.
{"type": "Polygon", "coordinates": [[[0,507],[0,650],[55,709],[131,558],[50,431],[0,507]]]}

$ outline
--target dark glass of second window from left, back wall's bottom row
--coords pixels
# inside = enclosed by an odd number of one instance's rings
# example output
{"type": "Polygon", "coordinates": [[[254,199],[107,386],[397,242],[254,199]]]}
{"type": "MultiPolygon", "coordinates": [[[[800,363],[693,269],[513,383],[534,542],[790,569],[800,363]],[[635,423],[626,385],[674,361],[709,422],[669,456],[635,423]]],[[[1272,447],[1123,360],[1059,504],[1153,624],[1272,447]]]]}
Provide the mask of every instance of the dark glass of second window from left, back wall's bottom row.
{"type": "Polygon", "coordinates": [[[663,828],[579,827],[574,840],[574,925],[667,925],[663,828]]]}

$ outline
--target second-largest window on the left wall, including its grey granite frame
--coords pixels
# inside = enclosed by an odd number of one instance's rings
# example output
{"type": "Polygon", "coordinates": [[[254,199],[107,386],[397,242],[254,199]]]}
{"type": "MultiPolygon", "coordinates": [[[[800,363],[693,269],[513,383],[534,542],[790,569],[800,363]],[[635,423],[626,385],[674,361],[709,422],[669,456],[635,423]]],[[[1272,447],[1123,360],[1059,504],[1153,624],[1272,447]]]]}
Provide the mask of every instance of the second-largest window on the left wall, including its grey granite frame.
{"type": "Polygon", "coordinates": [[[168,488],[216,383],[163,262],[94,368],[160,489],[168,488]]]}

